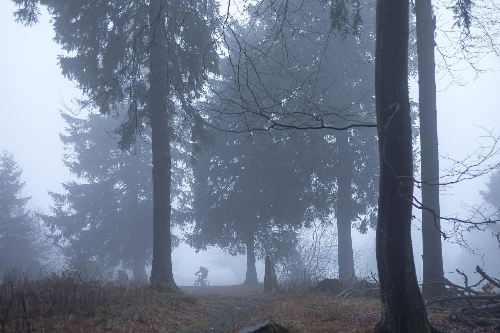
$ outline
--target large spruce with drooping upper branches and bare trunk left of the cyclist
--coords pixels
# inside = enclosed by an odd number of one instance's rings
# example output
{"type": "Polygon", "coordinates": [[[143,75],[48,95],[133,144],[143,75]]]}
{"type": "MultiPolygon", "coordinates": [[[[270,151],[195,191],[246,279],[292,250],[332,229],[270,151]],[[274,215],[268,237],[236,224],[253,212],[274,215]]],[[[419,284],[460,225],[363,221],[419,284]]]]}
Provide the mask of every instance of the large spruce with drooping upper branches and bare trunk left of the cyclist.
{"type": "MultiPolygon", "coordinates": [[[[175,286],[170,244],[170,143],[173,115],[192,115],[208,72],[216,70],[212,0],[104,1],[13,0],[25,24],[45,6],[54,40],[68,52],[59,57],[62,74],[88,96],[85,105],[101,113],[127,109],[118,130],[130,147],[145,120],[151,127],[153,253],[151,283],[175,286]]],[[[189,124],[189,122],[186,122],[189,124]]]]}

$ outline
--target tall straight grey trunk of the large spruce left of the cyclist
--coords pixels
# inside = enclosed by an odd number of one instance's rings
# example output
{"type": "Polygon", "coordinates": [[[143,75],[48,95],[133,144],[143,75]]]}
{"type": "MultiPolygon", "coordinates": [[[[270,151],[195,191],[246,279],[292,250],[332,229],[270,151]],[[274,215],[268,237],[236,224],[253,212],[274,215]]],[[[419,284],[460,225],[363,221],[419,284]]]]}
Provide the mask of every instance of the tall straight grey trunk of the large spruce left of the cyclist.
{"type": "Polygon", "coordinates": [[[170,115],[168,108],[167,48],[163,27],[166,24],[162,1],[149,1],[150,61],[149,93],[146,99],[151,124],[152,181],[153,181],[153,256],[151,284],[173,281],[170,241],[170,115]]]}

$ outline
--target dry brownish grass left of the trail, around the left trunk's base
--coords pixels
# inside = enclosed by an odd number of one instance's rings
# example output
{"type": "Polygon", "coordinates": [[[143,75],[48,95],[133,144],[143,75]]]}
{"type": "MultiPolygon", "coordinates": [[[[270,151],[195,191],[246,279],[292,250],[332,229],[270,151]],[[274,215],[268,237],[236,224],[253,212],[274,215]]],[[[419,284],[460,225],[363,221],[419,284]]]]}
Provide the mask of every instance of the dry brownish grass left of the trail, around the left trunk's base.
{"type": "Polygon", "coordinates": [[[204,302],[146,283],[74,272],[10,271],[0,281],[1,332],[175,332],[205,315],[204,302]]]}

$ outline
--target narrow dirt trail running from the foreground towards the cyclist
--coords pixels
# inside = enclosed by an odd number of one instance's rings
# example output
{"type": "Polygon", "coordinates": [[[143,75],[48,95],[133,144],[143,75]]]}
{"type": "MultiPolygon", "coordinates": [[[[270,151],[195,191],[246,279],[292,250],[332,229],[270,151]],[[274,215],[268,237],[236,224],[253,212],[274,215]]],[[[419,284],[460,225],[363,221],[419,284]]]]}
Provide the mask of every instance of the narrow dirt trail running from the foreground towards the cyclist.
{"type": "Polygon", "coordinates": [[[264,304],[263,287],[213,286],[179,287],[206,301],[203,319],[182,328],[179,333],[231,332],[246,324],[264,304]]]}

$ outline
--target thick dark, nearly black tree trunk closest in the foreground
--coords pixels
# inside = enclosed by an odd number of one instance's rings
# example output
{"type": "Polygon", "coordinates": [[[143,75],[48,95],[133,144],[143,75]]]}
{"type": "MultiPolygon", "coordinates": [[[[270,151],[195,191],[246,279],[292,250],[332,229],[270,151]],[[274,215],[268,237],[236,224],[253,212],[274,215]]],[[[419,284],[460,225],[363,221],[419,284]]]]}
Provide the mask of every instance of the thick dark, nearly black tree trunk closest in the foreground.
{"type": "Polygon", "coordinates": [[[380,154],[376,261],[381,318],[374,332],[430,332],[411,244],[413,161],[408,98],[408,1],[377,0],[375,98],[380,154]]]}

